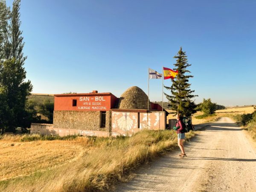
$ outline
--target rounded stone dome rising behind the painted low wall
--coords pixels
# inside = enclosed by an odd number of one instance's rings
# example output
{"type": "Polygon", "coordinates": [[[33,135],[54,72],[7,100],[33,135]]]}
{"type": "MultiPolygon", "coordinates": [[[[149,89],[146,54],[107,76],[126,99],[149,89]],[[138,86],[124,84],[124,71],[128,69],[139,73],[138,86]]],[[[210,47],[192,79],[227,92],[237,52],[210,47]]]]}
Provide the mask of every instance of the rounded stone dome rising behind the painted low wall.
{"type": "MultiPolygon", "coordinates": [[[[148,109],[148,96],[139,87],[128,88],[119,98],[119,109],[148,109]]],[[[149,102],[149,109],[151,105],[149,102]]]]}

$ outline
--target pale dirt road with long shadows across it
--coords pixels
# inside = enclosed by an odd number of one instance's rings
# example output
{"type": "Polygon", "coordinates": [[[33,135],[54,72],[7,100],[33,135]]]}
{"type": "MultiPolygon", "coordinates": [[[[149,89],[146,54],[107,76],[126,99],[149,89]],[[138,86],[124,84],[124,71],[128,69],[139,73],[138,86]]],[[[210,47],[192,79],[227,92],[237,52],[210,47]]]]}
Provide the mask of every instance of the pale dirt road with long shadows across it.
{"type": "Polygon", "coordinates": [[[179,150],[143,166],[115,191],[255,192],[256,148],[231,119],[221,118],[179,150]]]}

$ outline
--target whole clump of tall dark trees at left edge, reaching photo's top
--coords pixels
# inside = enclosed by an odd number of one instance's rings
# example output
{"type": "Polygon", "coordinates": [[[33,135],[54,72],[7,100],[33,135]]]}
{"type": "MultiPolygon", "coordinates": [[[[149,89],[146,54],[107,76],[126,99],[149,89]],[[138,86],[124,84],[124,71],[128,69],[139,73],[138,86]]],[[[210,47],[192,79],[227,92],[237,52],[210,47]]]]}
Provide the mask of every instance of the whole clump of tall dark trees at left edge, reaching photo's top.
{"type": "Polygon", "coordinates": [[[25,107],[27,96],[32,91],[32,84],[25,81],[26,71],[23,65],[26,57],[23,57],[22,52],[24,43],[20,31],[20,0],[14,0],[11,13],[5,1],[1,0],[0,6],[6,13],[0,14],[0,126],[3,133],[4,130],[15,131],[16,127],[23,127],[26,124],[28,113],[25,107]]]}

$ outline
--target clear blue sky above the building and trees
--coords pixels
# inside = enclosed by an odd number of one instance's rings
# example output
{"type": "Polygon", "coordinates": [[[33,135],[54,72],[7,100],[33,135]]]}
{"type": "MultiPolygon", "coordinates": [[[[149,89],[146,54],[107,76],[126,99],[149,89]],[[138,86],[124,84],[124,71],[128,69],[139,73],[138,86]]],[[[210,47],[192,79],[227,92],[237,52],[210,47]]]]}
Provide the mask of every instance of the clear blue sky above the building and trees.
{"type": "MultiPolygon", "coordinates": [[[[254,0],[22,0],[27,79],[33,93],[147,93],[148,67],[173,68],[183,47],[196,103],[256,104],[255,10],[254,0]]],[[[161,86],[150,80],[151,101],[161,86]]]]}

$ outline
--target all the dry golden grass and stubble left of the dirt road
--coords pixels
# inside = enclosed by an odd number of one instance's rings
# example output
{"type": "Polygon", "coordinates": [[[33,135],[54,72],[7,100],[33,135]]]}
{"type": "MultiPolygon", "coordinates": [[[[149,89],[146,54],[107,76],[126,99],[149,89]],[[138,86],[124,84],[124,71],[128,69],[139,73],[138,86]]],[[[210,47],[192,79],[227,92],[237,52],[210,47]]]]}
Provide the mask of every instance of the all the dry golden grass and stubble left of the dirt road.
{"type": "MultiPolygon", "coordinates": [[[[186,138],[194,135],[189,132],[186,138]]],[[[173,130],[145,130],[132,137],[44,139],[1,137],[0,191],[108,191],[136,167],[177,146],[173,130]]]]}

